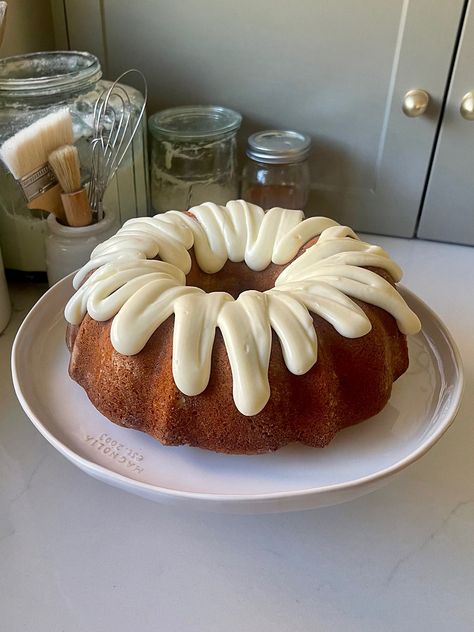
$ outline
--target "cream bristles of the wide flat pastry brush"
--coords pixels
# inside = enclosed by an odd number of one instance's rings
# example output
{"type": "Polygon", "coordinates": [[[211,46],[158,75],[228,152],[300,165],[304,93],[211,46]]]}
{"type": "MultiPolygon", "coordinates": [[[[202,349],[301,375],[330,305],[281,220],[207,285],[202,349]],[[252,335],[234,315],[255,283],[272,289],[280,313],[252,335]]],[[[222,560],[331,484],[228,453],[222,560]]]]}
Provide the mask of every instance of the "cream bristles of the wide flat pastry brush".
{"type": "Polygon", "coordinates": [[[19,180],[45,165],[54,149],[72,142],[71,115],[67,108],[63,108],[38,119],[6,140],[0,147],[0,158],[19,180]]]}

